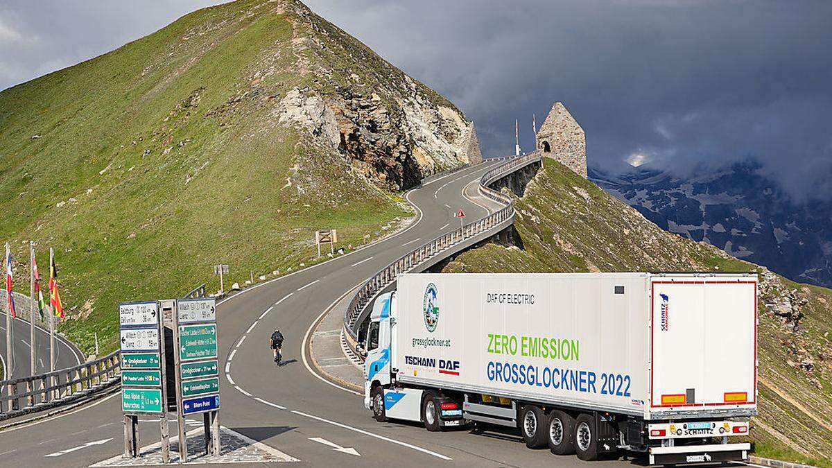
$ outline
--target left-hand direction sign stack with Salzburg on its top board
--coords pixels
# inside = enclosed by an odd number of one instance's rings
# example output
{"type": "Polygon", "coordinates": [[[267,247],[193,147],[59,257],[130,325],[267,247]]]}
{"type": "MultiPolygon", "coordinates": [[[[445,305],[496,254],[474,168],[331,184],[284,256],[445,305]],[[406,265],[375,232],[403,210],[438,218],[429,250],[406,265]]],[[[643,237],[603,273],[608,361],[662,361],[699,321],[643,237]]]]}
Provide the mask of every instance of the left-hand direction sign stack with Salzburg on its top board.
{"type": "Polygon", "coordinates": [[[156,301],[122,302],[118,306],[121,342],[121,411],[124,413],[124,456],[139,455],[139,415],[159,416],[162,461],[170,461],[167,429],[165,340],[156,301]]]}

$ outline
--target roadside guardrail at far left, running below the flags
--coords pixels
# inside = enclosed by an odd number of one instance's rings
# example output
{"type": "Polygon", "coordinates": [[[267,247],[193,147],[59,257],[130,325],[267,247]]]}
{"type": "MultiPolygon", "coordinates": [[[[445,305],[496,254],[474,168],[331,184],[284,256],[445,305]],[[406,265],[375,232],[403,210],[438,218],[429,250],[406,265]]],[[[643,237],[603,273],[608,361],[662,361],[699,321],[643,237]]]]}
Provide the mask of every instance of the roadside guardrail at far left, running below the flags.
{"type": "Polygon", "coordinates": [[[121,380],[119,351],[79,366],[0,381],[0,421],[60,406],[121,380]]]}

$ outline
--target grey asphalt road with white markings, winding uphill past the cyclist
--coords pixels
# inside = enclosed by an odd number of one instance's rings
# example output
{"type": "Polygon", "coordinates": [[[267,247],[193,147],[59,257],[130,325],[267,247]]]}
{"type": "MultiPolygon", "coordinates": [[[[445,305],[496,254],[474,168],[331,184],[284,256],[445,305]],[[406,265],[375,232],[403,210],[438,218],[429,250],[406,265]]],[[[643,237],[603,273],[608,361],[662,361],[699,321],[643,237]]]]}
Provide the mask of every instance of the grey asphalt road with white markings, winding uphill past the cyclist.
{"type": "MultiPolygon", "coordinates": [[[[532,451],[517,434],[468,430],[432,433],[409,423],[378,423],[362,396],[334,386],[307,366],[305,336],[334,301],[419,241],[453,229],[458,209],[468,220],[493,202],[474,197],[476,181],[493,162],[439,178],[409,192],[418,221],[398,235],[346,256],[297,271],[220,302],[220,424],[300,460],[302,466],[587,466],[575,456],[532,451]],[[463,196],[466,195],[473,198],[463,196]],[[275,328],[283,331],[284,366],[269,349],[275,328]],[[335,451],[313,438],[353,448],[335,451]]],[[[126,298],[128,299],[128,298],[126,298]]],[[[309,333],[310,334],[310,333],[309,333]]],[[[62,416],[0,432],[3,466],[88,466],[123,450],[118,394],[62,416]],[[93,441],[111,441],[46,457],[93,441]]],[[[171,434],[175,432],[171,428],[171,434]]],[[[157,423],[142,423],[140,445],[159,440],[157,423]]],[[[593,466],[632,466],[600,461],[593,466]]]]}

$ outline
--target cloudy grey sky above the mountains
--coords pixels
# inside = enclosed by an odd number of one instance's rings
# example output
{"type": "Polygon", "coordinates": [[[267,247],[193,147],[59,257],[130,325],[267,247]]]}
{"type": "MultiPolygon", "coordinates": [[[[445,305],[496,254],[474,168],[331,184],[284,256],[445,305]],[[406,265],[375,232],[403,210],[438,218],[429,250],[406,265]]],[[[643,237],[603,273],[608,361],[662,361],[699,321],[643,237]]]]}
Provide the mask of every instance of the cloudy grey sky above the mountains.
{"type": "MultiPolygon", "coordinates": [[[[144,36],[211,0],[0,0],[0,88],[144,36]]],[[[745,157],[832,197],[832,2],[307,0],[456,103],[483,152],[533,147],[552,102],[592,167],[681,175],[745,157]]]]}

